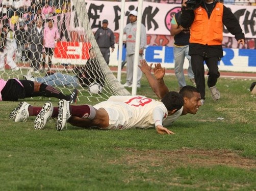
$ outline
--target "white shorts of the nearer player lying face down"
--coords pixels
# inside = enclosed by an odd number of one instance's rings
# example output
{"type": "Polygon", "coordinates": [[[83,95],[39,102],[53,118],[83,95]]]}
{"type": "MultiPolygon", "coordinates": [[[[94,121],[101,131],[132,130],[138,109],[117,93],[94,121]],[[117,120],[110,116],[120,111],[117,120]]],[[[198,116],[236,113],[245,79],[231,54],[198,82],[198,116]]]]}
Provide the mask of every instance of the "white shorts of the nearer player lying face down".
{"type": "Polygon", "coordinates": [[[108,130],[129,129],[129,120],[132,117],[131,108],[122,102],[105,101],[93,106],[95,109],[104,108],[109,115],[108,130]]]}

